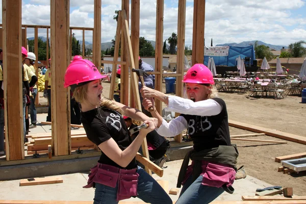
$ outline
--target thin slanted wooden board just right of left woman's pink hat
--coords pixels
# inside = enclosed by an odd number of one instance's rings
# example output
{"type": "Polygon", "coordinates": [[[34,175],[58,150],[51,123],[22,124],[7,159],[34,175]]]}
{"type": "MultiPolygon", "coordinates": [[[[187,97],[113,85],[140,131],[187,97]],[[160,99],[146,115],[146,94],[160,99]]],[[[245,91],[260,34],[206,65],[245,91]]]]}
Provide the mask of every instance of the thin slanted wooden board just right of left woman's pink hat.
{"type": "MultiPolygon", "coordinates": [[[[119,56],[121,26],[122,26],[121,25],[121,11],[119,11],[117,29],[116,29],[116,37],[115,37],[116,41],[115,41],[115,49],[114,49],[114,63],[113,63],[113,69],[112,69],[112,76],[114,76],[114,77],[112,77],[112,79],[111,79],[111,87],[110,87],[110,95],[109,95],[110,99],[114,99],[114,91],[115,91],[115,83],[116,83],[116,77],[115,76],[116,76],[116,72],[117,72],[117,64],[115,64],[115,63],[118,62],[118,56],[119,56]]],[[[121,51],[121,53],[122,53],[122,51],[121,51]]],[[[122,60],[122,58],[121,58],[121,60],[122,60]]],[[[105,61],[105,60],[103,60],[103,61],[105,61]]],[[[105,63],[103,61],[102,61],[102,63],[105,63]]],[[[123,77],[123,75],[122,75],[122,77],[123,77]]]]}

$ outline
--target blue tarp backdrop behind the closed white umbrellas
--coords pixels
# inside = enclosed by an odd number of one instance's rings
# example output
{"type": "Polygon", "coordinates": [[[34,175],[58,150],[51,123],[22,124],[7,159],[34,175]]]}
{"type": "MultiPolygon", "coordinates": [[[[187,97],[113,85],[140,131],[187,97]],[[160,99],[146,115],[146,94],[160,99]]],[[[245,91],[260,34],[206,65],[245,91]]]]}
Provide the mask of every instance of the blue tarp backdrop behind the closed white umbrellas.
{"type": "Polygon", "coordinates": [[[253,60],[256,60],[253,45],[247,47],[230,46],[230,49],[228,49],[228,56],[204,56],[204,64],[207,66],[209,57],[212,57],[214,58],[216,66],[237,66],[236,58],[238,58],[239,55],[242,59],[249,57],[250,65],[253,64],[253,60]]]}

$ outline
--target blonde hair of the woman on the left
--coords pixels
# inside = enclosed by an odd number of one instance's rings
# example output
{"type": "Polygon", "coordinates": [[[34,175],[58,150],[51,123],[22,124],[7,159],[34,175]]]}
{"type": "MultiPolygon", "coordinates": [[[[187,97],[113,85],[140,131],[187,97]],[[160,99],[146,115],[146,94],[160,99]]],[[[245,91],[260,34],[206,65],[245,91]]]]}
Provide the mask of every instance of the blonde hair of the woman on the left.
{"type": "MultiPolygon", "coordinates": [[[[88,88],[88,84],[76,87],[73,91],[73,98],[75,98],[75,100],[81,104],[88,101],[87,100],[87,88],[88,88]]],[[[121,115],[123,115],[123,110],[119,106],[115,105],[112,100],[106,98],[105,96],[101,98],[99,107],[105,107],[113,111],[117,111],[121,115]]]]}

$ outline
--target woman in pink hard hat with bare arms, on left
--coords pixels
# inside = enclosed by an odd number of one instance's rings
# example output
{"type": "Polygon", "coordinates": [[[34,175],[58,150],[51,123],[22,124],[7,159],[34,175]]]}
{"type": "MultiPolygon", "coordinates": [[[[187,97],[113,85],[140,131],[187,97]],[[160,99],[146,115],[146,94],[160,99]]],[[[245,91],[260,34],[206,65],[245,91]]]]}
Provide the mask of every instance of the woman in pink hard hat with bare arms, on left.
{"type": "Polygon", "coordinates": [[[65,73],[64,86],[70,86],[73,97],[81,103],[86,135],[101,150],[100,159],[91,168],[84,188],[95,187],[94,204],[118,203],[131,196],[149,203],[172,203],[163,188],[138,167],[135,160],[143,139],[155,129],[157,119],[116,101],[101,98],[101,78],[104,77],[88,60],[73,61],[65,73]],[[148,125],[147,129],[140,130],[134,141],[122,114],[148,125]]]}

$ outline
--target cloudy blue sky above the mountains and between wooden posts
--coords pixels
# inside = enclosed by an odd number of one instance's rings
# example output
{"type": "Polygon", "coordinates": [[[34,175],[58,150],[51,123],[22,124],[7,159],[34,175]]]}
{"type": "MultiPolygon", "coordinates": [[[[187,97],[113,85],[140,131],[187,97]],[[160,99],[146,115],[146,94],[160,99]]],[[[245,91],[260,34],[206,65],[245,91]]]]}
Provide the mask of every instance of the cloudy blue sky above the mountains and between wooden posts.
{"type": "MultiPolygon", "coordinates": [[[[70,26],[93,28],[93,2],[70,0],[70,26]]],[[[177,33],[177,7],[178,0],[164,0],[164,41],[172,32],[177,33]]],[[[121,0],[102,0],[101,42],[114,39],[117,23],[113,16],[120,9],[121,0]]],[[[288,46],[306,40],[305,11],[306,0],[206,0],[205,43],[210,45],[211,39],[214,45],[260,40],[288,46]]],[[[50,0],[22,0],[22,24],[50,25],[50,0]]],[[[192,27],[193,0],[187,0],[185,45],[190,48],[192,27]]],[[[156,1],[141,0],[140,37],[155,40],[155,29],[156,1]]],[[[46,37],[45,29],[38,32],[38,36],[46,37]]],[[[82,40],[82,31],[73,33],[82,40]]],[[[27,29],[27,37],[34,37],[34,29],[27,29]]],[[[85,32],[85,41],[92,43],[92,31],[85,32]]]]}

